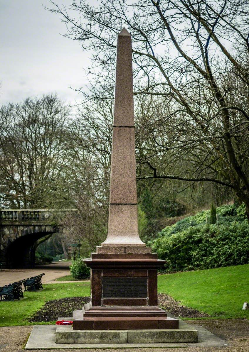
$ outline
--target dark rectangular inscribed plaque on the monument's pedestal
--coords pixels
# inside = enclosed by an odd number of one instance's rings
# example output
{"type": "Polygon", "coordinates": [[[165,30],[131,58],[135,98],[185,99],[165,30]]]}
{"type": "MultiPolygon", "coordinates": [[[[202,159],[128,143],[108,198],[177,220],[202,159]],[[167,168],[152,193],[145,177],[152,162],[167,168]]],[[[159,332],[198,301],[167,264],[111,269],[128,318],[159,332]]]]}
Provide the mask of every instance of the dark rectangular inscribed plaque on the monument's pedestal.
{"type": "Polygon", "coordinates": [[[147,277],[103,277],[103,298],[145,298],[147,277]]]}

